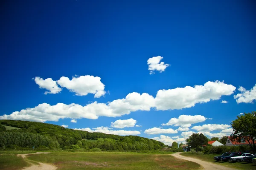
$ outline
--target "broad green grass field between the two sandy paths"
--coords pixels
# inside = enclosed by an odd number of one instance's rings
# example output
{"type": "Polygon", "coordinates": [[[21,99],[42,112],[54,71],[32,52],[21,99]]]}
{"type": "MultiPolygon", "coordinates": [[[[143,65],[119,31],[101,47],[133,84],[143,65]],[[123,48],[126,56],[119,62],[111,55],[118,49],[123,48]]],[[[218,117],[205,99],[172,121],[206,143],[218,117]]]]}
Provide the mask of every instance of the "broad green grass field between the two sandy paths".
{"type": "Polygon", "coordinates": [[[201,166],[171,155],[132,153],[55,152],[29,155],[29,160],[51,163],[58,170],[198,170],[201,166]]]}

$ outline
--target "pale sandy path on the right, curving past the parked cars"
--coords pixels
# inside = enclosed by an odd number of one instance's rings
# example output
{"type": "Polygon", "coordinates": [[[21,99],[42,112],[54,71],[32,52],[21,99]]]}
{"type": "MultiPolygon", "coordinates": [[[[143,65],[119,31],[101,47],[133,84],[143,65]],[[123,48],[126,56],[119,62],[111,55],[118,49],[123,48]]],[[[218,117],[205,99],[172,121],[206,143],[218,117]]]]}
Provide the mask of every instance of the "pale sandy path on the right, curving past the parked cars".
{"type": "Polygon", "coordinates": [[[224,166],[221,166],[221,165],[213,164],[213,163],[210,163],[210,162],[207,162],[207,161],[202,161],[200,159],[190,158],[190,157],[187,157],[187,156],[181,156],[180,153],[181,152],[177,152],[177,153],[173,153],[171,155],[176,157],[176,158],[179,158],[179,159],[185,159],[185,160],[188,160],[188,161],[198,163],[202,167],[204,167],[205,170],[237,170],[237,169],[234,169],[234,168],[224,167],[224,166]]]}

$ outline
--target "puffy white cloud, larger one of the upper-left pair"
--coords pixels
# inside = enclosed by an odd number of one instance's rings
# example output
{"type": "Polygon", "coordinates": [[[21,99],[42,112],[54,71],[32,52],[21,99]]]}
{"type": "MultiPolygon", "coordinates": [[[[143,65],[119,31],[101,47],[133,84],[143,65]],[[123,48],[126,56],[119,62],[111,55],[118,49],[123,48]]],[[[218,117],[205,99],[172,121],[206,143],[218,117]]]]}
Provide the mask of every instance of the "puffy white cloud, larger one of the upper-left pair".
{"type": "Polygon", "coordinates": [[[104,91],[105,85],[100,81],[100,77],[87,75],[73,77],[72,80],[68,77],[61,77],[57,82],[61,87],[75,92],[77,96],[86,96],[91,93],[98,98],[106,93],[104,91]]]}

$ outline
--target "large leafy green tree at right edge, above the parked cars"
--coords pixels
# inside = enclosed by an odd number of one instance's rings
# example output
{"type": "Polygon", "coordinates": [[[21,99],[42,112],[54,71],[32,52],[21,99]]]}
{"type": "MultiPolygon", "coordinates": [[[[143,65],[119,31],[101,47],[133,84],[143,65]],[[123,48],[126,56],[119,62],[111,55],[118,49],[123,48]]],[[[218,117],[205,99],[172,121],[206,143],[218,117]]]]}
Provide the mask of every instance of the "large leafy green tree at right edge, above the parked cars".
{"type": "Polygon", "coordinates": [[[242,142],[246,140],[254,153],[256,153],[256,112],[244,113],[244,115],[237,116],[236,120],[231,122],[233,133],[232,140],[242,142]]]}

